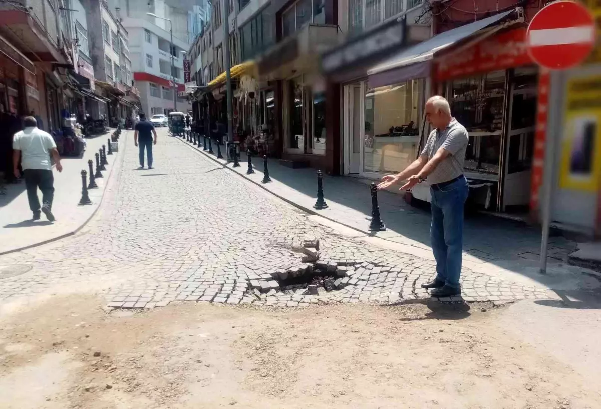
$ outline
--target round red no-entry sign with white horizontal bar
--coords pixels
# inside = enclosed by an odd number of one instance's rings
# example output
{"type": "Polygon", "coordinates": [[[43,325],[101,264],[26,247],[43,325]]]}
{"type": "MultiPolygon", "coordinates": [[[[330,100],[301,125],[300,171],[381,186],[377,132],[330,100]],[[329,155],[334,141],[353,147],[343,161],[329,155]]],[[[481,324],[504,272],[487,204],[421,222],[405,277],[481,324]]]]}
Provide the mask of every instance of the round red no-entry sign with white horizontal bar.
{"type": "Polygon", "coordinates": [[[580,3],[556,1],[536,13],[526,35],[528,51],[535,62],[564,70],[580,64],[593,50],[594,17],[580,3]]]}

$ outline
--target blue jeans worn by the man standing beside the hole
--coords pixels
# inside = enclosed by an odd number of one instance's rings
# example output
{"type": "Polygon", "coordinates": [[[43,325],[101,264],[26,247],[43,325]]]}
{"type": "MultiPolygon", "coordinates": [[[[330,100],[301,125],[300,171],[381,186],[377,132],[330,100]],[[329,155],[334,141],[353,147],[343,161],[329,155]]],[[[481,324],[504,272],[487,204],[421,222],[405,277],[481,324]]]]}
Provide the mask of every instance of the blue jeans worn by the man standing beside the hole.
{"type": "Polygon", "coordinates": [[[439,190],[430,187],[430,238],[436,259],[436,280],[453,288],[459,288],[463,255],[463,206],[468,192],[468,181],[463,176],[439,190]]]}

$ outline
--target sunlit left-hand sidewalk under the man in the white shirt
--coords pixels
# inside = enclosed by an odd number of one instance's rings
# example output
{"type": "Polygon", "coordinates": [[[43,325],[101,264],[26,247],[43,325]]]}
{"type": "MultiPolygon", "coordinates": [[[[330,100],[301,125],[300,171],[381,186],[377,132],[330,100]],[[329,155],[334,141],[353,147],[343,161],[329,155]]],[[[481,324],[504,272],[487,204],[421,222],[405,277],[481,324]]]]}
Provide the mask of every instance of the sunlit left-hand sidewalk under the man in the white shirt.
{"type": "MultiPolygon", "coordinates": [[[[106,139],[111,137],[113,131],[114,129],[109,129],[103,135],[85,139],[87,147],[83,157],[61,158],[63,172],[59,173],[56,169],[53,170],[55,192],[52,213],[56,217],[54,223],[46,220],[43,214],[41,220],[36,222],[31,220],[24,180],[19,184],[5,186],[6,194],[0,195],[0,255],[75,234],[88,222],[102,200],[104,188],[118,153],[106,157],[109,165],[105,165],[106,171],[102,172],[103,178],[96,180],[99,189],[88,191],[92,201],[91,205],[78,205],[79,199],[81,199],[80,172],[88,171],[88,159],[93,160],[94,171],[96,171],[94,153],[97,153],[103,144],[106,145],[106,139]]],[[[121,139],[124,138],[124,133],[121,133],[121,139]]],[[[41,202],[41,192],[39,191],[38,196],[41,202]]]]}

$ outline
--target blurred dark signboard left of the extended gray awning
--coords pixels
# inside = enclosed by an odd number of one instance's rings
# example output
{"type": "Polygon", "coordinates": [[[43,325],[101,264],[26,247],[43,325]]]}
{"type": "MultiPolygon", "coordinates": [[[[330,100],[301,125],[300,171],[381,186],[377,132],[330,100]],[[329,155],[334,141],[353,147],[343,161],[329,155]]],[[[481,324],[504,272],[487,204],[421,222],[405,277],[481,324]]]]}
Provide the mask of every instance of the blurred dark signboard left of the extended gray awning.
{"type": "Polygon", "coordinates": [[[403,47],[406,42],[407,24],[405,18],[392,19],[376,29],[358,35],[340,47],[326,52],[322,56],[322,70],[331,75],[338,70],[389,56],[391,52],[403,47]]]}

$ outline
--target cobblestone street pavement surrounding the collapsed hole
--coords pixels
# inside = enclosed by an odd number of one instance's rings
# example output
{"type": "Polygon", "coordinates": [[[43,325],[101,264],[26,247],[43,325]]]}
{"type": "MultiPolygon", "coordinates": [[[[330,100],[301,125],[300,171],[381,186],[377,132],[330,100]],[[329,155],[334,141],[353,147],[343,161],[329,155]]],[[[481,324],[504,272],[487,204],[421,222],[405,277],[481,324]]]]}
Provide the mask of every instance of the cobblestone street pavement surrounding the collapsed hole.
{"type": "MultiPolygon", "coordinates": [[[[311,222],[304,214],[242,180],[182,141],[159,131],[156,168],[138,167],[126,133],[105,199],[79,234],[0,256],[0,303],[60,292],[102,294],[114,308],[154,308],[171,301],[305,306],[389,303],[425,298],[419,284],[433,262],[368,247],[311,222]],[[302,262],[304,234],[320,237],[318,264],[302,262]],[[2,267],[31,266],[2,278],[2,267]],[[337,271],[337,290],[284,292],[278,279],[337,271]]],[[[110,158],[110,157],[109,157],[110,158]]],[[[542,288],[462,273],[463,297],[442,301],[547,299],[542,288]]]]}

